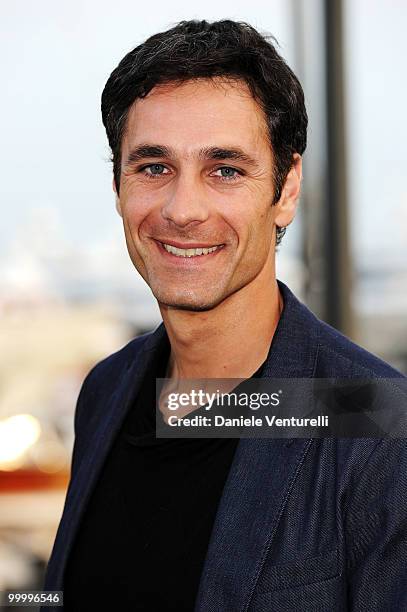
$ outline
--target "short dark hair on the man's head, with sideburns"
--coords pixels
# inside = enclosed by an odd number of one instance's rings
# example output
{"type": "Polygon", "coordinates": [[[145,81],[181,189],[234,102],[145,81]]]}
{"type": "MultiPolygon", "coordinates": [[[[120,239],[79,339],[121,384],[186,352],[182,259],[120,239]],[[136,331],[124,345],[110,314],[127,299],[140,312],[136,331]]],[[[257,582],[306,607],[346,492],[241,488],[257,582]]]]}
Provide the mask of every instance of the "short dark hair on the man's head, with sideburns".
{"type": "MultiPolygon", "coordinates": [[[[245,81],[265,114],[275,164],[276,203],[293,154],[305,150],[308,118],[301,84],[271,40],[276,43],[273,36],[262,35],[245,22],[191,20],[150,36],[130,51],[113,70],[102,93],[102,119],[112,150],[117,193],[122,137],[135,100],[144,98],[156,85],[224,77],[245,81]]],[[[284,232],[277,228],[277,244],[284,232]]]]}

